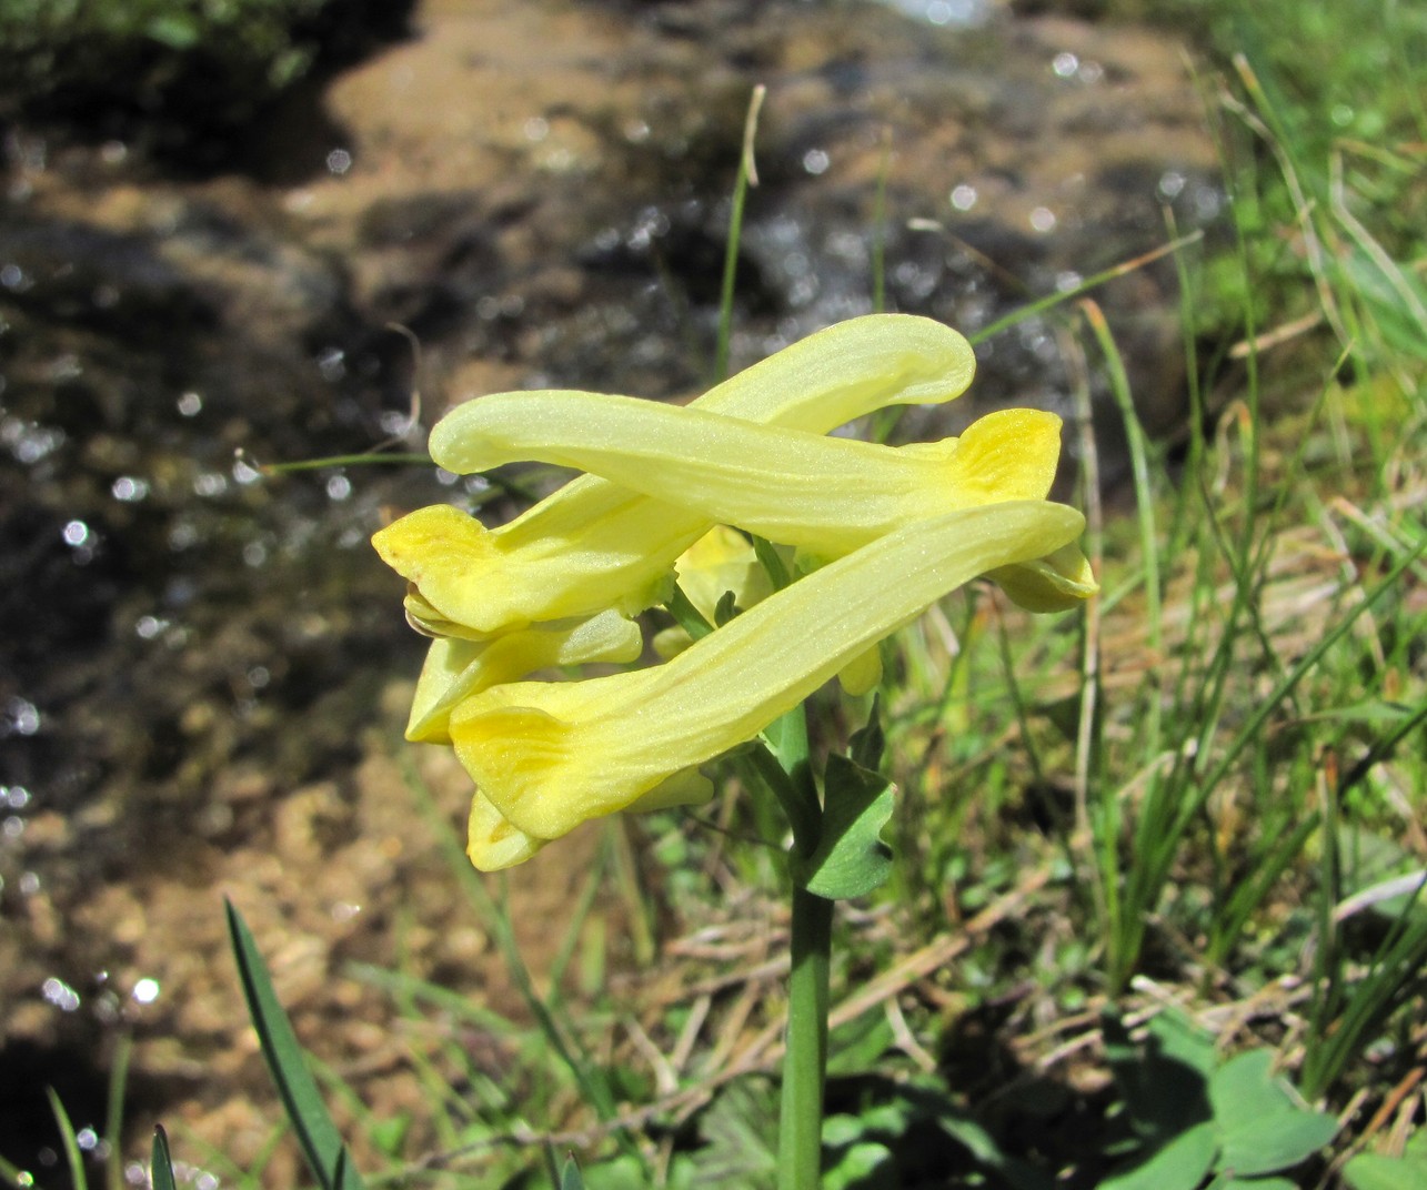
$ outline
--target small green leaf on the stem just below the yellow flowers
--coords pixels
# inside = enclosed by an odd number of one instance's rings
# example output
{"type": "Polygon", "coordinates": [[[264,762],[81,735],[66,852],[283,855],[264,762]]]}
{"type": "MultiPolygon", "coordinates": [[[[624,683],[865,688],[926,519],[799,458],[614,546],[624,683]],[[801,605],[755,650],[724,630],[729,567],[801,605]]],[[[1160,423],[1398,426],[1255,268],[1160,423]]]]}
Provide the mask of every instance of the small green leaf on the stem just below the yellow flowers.
{"type": "Polygon", "coordinates": [[[822,835],[806,859],[793,859],[793,879],[815,896],[865,896],[892,873],[892,849],[882,828],[892,818],[893,785],[846,756],[829,756],[822,835]]]}

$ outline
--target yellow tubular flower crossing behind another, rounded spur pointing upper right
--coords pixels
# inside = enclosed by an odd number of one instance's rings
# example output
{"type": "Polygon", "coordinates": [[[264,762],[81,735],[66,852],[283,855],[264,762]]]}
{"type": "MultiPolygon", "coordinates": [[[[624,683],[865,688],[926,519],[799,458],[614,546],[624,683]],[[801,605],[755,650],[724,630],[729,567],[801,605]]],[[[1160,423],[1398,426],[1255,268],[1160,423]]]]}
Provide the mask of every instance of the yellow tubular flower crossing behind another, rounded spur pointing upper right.
{"type": "MultiPolygon", "coordinates": [[[[872,314],[771,355],[692,407],[818,435],[885,405],[948,401],[966,390],[973,370],[970,347],[948,327],[872,314]]],[[[492,400],[458,405],[432,444],[462,438],[467,419],[492,400]]],[[[411,584],[414,625],[481,639],[538,621],[608,608],[632,615],[662,602],[674,559],[718,519],[586,475],[497,529],[438,505],[402,517],[372,545],[411,584]]]]}

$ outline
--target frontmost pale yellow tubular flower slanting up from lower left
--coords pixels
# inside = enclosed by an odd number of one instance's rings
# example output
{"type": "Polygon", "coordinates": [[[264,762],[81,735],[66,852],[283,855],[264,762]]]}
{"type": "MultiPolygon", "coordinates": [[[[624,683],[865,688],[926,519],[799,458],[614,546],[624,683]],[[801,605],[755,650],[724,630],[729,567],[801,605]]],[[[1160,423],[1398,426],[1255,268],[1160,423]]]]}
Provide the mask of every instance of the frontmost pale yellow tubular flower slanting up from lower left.
{"type": "Polygon", "coordinates": [[[559,838],[752,739],[948,591],[1045,558],[1083,525],[1075,509],[1043,501],[906,525],[763,599],[666,665],[478,693],[451,713],[451,739],[505,822],[537,840],[559,838]]]}

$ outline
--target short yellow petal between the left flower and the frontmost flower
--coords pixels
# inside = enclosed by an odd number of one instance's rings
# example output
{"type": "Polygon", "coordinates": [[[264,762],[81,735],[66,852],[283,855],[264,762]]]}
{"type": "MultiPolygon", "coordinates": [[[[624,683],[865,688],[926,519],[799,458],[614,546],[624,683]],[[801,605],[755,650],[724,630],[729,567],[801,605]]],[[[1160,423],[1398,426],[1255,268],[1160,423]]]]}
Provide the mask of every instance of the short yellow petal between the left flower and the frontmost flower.
{"type": "Polygon", "coordinates": [[[641,652],[644,638],[639,625],[618,612],[602,612],[574,624],[518,629],[491,641],[438,636],[431,642],[417,679],[407,739],[450,743],[447,721],[451,708],[488,686],[515,682],[557,665],[638,661],[641,652]]]}

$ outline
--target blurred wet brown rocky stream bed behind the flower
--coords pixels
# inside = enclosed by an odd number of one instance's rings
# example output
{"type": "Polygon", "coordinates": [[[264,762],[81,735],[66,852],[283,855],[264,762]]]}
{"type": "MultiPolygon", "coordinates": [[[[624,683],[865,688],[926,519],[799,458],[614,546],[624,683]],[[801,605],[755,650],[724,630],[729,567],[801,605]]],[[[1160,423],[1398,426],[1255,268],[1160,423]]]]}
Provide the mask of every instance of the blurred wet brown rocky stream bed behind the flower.
{"type": "MultiPolygon", "coordinates": [[[[0,1154],[57,1163],[46,1086],[98,1143],[126,1036],[131,1137],[161,1114],[257,1160],[271,1099],[221,895],[377,1114],[415,1093],[390,999],[345,965],[400,952],[511,996],[411,813],[402,765],[454,823],[467,790],[400,743],[422,642],[367,544],[489,494],[421,467],[263,465],[420,451],[418,388],[427,427],[504,388],[698,392],[755,84],[735,368],[869,311],[879,268],[888,308],[975,332],[1176,235],[1203,233],[1209,260],[1234,150],[1206,63],[1247,46],[1284,86],[1311,77],[1290,11],[1317,9],[0,0],[0,1154]]],[[[1323,127],[1371,140],[1371,113],[1339,104],[1323,127]]],[[[1173,261],[1096,297],[1173,441],[1173,261]]],[[[1202,312],[1219,357],[1232,330],[1202,312]]],[[[1012,404],[1073,415],[1053,321],[977,355],[972,395],[906,434],[1012,404]]],[[[1096,421],[1113,499],[1119,422],[1096,421]]],[[[568,903],[575,868],[515,873],[518,929],[568,903]]],[[[528,943],[538,969],[551,943],[528,943]]]]}

